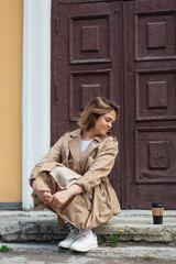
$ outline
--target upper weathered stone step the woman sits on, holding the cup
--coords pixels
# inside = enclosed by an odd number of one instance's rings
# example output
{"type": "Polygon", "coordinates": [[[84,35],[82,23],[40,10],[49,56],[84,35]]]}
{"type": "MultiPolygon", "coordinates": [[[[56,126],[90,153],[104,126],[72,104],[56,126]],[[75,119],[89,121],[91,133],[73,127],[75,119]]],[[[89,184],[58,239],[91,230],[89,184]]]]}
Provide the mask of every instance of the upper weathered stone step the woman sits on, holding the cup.
{"type": "MultiPolygon", "coordinates": [[[[176,243],[176,211],[166,210],[163,224],[153,224],[150,210],[122,210],[111,220],[95,229],[99,242],[107,235],[121,233],[121,242],[176,243]]],[[[57,217],[51,211],[0,211],[1,242],[56,242],[67,230],[58,228],[57,217]]]]}

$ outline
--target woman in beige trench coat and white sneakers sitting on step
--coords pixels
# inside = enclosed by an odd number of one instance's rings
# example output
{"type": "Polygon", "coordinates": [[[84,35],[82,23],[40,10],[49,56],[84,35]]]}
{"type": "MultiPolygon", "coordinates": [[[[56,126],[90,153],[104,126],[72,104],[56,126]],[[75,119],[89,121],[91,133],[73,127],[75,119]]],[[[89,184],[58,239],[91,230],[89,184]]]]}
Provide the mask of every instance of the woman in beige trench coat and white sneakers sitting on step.
{"type": "Polygon", "coordinates": [[[117,139],[108,132],[118,116],[119,106],[113,101],[92,99],[81,113],[80,129],[64,134],[32,170],[35,208],[50,208],[70,229],[59,248],[96,249],[91,229],[120,212],[108,180],[118,154],[117,139]]]}

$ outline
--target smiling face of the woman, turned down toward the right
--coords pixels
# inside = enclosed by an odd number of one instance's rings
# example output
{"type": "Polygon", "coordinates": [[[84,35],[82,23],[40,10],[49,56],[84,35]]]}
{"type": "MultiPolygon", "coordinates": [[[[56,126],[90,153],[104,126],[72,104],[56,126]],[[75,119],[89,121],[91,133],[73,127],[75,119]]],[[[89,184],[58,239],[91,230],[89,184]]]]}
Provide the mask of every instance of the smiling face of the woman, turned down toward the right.
{"type": "Polygon", "coordinates": [[[108,131],[112,128],[113,122],[116,121],[116,111],[105,113],[100,116],[95,123],[94,133],[96,135],[106,135],[108,131]]]}

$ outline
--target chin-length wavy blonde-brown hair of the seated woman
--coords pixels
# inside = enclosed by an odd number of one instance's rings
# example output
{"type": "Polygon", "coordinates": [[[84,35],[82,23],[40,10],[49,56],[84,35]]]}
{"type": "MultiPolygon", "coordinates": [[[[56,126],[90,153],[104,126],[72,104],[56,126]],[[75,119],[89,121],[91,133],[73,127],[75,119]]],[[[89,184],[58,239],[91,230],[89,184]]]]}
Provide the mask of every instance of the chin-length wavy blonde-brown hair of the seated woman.
{"type": "Polygon", "coordinates": [[[78,125],[80,129],[89,131],[95,127],[95,122],[100,116],[111,112],[112,110],[114,110],[117,119],[119,117],[120,107],[107,98],[96,97],[81,112],[78,125]]]}

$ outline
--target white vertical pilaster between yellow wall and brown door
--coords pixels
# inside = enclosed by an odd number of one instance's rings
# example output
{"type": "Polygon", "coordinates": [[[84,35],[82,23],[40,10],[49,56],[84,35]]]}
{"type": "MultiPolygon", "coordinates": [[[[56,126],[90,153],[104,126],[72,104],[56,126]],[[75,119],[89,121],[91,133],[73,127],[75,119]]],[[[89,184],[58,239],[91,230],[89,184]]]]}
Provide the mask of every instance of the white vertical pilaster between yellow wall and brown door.
{"type": "Polygon", "coordinates": [[[51,0],[23,0],[22,206],[32,208],[31,169],[51,141],[51,0]]]}

